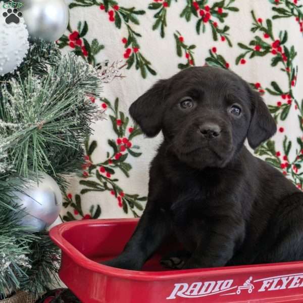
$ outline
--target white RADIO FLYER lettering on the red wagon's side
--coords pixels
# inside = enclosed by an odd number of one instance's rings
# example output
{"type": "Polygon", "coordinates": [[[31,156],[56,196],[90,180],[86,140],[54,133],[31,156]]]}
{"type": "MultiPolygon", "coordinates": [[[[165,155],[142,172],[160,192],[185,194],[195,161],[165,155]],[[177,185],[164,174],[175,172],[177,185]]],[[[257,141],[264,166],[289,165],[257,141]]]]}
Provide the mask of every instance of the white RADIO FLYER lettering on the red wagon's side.
{"type": "Polygon", "coordinates": [[[177,296],[183,298],[197,298],[215,294],[239,295],[243,291],[252,293],[254,291],[264,292],[303,287],[303,273],[273,276],[254,281],[250,276],[242,285],[233,284],[233,279],[193,282],[191,284],[176,283],[167,299],[175,299],[177,296]]]}

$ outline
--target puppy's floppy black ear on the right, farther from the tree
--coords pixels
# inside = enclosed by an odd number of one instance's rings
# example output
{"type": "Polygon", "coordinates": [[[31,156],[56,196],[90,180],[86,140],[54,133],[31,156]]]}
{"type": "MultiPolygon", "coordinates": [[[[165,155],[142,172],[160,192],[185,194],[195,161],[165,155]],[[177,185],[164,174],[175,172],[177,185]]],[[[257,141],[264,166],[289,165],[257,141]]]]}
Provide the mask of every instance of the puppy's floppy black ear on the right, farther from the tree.
{"type": "Polygon", "coordinates": [[[260,94],[250,88],[249,90],[252,116],[247,139],[250,147],[255,149],[276,133],[277,125],[260,94]]]}

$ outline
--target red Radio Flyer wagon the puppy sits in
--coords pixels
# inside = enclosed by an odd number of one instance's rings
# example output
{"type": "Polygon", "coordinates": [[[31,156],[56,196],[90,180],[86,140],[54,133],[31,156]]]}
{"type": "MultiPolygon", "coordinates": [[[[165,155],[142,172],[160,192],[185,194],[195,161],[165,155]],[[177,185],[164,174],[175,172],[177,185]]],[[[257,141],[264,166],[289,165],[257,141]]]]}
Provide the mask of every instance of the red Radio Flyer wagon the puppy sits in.
{"type": "Polygon", "coordinates": [[[122,251],[137,222],[75,221],[50,231],[62,249],[60,278],[83,303],[303,302],[303,262],[168,271],[159,265],[164,246],[142,271],[98,264],[122,251]]]}

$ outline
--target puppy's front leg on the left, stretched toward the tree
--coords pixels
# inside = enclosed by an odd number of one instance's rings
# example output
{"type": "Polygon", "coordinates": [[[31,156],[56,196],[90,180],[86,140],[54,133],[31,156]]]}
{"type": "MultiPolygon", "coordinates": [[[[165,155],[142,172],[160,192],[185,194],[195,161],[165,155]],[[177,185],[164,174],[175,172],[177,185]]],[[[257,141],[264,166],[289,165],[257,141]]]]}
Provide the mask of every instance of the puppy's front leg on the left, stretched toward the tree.
{"type": "Polygon", "coordinates": [[[169,218],[166,213],[148,201],[138,226],[124,247],[121,255],[103,264],[129,269],[140,270],[145,261],[160,246],[170,230],[169,218]]]}

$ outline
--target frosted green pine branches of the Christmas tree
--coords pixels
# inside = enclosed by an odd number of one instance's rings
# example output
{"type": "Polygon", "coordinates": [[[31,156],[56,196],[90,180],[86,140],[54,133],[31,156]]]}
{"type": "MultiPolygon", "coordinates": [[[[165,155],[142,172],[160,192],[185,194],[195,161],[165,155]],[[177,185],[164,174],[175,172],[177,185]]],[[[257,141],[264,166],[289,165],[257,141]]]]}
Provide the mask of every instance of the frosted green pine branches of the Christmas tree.
{"type": "Polygon", "coordinates": [[[14,192],[39,171],[54,177],[81,169],[83,140],[100,92],[96,70],[54,43],[31,42],[18,73],[0,77],[0,293],[39,294],[56,283],[59,249],[46,232],[19,224],[14,192]]]}

